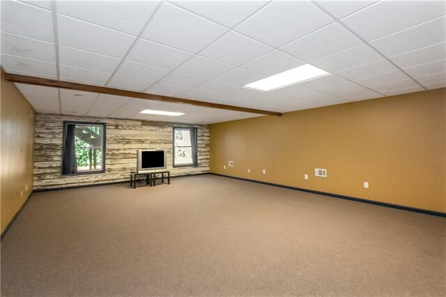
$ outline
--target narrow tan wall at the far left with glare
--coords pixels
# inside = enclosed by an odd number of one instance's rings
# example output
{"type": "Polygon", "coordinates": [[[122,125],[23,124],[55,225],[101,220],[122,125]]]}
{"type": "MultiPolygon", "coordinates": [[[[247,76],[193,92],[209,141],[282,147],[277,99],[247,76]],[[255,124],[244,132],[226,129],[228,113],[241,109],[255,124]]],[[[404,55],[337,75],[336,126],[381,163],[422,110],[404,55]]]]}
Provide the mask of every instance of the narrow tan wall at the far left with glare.
{"type": "Polygon", "coordinates": [[[33,109],[1,71],[1,233],[33,189],[33,109]],[[26,185],[28,189],[26,190],[26,185]],[[22,195],[21,192],[22,191],[22,195]]]}

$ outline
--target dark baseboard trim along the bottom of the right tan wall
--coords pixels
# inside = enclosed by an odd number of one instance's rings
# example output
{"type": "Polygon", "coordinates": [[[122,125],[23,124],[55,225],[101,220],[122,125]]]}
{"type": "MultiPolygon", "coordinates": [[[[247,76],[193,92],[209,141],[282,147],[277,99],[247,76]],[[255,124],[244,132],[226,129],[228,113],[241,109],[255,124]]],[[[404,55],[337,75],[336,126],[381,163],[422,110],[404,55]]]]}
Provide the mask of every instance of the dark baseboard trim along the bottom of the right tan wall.
{"type": "Polygon", "coordinates": [[[422,209],[422,208],[402,206],[402,205],[398,205],[398,204],[390,204],[390,203],[386,203],[386,202],[373,201],[373,200],[357,198],[357,197],[350,197],[350,196],[345,196],[345,195],[333,194],[333,193],[329,193],[329,192],[309,190],[309,189],[305,189],[305,188],[297,188],[297,187],[292,187],[291,185],[280,185],[279,183],[268,183],[266,181],[256,181],[254,179],[241,178],[241,177],[236,177],[236,176],[228,176],[228,175],[224,175],[224,174],[216,174],[213,172],[209,172],[209,174],[213,174],[216,176],[223,176],[223,177],[227,177],[227,178],[235,178],[235,179],[239,179],[240,181],[250,181],[252,183],[261,183],[263,185],[273,185],[273,186],[279,187],[279,188],[286,188],[286,189],[297,190],[297,191],[301,191],[301,192],[309,192],[309,193],[324,195],[324,196],[328,196],[328,197],[346,199],[346,200],[357,201],[357,202],[367,203],[367,204],[374,204],[374,205],[384,206],[384,207],[389,207],[389,208],[397,208],[397,209],[401,209],[403,211],[412,211],[415,213],[424,213],[425,215],[435,215],[437,217],[446,218],[446,213],[442,213],[440,211],[429,211],[429,210],[422,209]]]}

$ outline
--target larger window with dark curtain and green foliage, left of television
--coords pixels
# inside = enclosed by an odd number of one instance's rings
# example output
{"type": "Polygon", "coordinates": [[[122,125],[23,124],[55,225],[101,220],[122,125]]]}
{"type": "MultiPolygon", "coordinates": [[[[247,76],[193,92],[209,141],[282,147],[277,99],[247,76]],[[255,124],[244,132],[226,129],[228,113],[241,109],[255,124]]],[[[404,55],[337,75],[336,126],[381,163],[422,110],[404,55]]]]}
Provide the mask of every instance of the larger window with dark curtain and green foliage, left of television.
{"type": "Polygon", "coordinates": [[[105,123],[63,122],[62,174],[105,172],[105,123]]]}

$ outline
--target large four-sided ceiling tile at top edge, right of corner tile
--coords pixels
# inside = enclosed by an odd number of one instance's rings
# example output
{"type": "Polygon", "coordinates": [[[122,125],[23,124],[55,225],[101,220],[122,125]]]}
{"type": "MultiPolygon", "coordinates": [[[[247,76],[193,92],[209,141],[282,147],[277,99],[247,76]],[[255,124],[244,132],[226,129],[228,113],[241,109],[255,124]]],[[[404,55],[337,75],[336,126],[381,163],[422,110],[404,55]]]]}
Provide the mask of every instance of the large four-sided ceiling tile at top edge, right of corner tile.
{"type": "Polygon", "coordinates": [[[57,12],[138,35],[159,1],[57,1],[57,12]]]}

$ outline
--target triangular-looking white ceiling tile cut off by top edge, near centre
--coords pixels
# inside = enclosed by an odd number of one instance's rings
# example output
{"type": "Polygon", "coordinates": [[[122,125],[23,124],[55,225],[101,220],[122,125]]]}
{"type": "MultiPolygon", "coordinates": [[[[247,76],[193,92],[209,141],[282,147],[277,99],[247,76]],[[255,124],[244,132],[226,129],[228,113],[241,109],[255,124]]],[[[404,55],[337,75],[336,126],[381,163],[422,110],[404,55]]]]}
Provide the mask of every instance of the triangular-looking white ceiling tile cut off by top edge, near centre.
{"type": "Polygon", "coordinates": [[[174,3],[214,22],[233,27],[268,1],[174,1],[174,3]]]}

